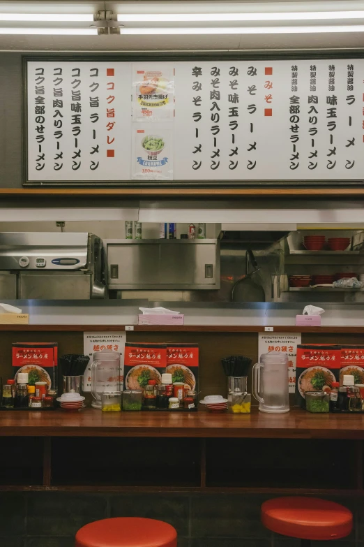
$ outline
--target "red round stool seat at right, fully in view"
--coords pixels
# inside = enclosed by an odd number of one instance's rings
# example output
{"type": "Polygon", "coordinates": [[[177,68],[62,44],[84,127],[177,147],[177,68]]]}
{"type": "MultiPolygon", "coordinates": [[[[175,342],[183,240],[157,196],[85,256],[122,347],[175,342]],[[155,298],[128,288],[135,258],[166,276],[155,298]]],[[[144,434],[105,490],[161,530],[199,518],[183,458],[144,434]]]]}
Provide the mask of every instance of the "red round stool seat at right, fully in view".
{"type": "Polygon", "coordinates": [[[339,539],[350,534],[353,515],[346,507],[314,497],[278,497],[261,506],[268,530],[300,539],[339,539]]]}

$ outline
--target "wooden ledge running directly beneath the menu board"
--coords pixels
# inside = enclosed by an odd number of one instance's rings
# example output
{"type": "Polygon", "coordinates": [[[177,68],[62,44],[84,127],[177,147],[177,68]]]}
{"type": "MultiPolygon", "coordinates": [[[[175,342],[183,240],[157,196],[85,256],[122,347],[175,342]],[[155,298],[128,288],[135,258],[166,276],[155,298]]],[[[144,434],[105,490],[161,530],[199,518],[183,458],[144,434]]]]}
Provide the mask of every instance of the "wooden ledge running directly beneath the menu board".
{"type": "Polygon", "coordinates": [[[278,196],[278,197],[292,197],[292,196],[333,196],[333,197],[348,197],[364,196],[364,188],[313,188],[313,187],[301,187],[301,188],[287,188],[287,187],[275,187],[275,188],[191,188],[181,187],[179,188],[1,188],[0,196],[2,197],[16,197],[21,196],[29,197],[52,197],[52,196],[79,196],[79,197],[123,197],[123,198],[148,198],[148,197],[173,197],[181,198],[181,192],[183,197],[215,197],[215,196],[254,196],[257,198],[265,196],[278,196]]]}

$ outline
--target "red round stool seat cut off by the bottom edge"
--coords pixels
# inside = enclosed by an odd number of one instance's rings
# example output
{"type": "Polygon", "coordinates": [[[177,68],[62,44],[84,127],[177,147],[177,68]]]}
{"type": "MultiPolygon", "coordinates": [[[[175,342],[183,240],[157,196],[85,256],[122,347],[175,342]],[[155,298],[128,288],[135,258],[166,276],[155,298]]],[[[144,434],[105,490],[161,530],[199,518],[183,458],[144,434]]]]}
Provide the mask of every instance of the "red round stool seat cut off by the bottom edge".
{"type": "Polygon", "coordinates": [[[153,518],[105,518],[80,528],[75,547],[177,547],[177,532],[153,518]]]}

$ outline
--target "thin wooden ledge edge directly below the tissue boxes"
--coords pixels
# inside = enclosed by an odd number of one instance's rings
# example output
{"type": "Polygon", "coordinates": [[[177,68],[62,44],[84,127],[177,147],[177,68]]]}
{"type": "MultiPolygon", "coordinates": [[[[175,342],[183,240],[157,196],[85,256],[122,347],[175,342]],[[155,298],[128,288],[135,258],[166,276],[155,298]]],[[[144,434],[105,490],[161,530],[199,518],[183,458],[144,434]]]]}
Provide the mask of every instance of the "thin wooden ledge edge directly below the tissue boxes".
{"type": "MultiPolygon", "coordinates": [[[[264,333],[262,325],[132,325],[135,333],[264,333]]],[[[14,332],[95,332],[125,330],[125,325],[0,325],[0,331],[14,332]]],[[[364,326],[322,326],[296,327],[287,325],[273,326],[273,333],[342,333],[364,334],[364,326]]],[[[272,331],[270,331],[272,332],[272,331]]]]}

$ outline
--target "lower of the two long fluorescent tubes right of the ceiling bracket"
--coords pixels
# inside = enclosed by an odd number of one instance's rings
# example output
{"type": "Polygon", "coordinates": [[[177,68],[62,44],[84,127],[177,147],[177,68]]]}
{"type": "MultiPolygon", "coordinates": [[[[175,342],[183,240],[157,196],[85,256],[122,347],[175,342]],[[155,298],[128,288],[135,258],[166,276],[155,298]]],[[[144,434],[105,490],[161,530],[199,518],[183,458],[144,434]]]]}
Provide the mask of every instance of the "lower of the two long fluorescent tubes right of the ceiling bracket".
{"type": "Polygon", "coordinates": [[[364,24],[328,25],[327,27],[120,27],[120,34],[305,34],[315,32],[364,32],[364,24]]]}

